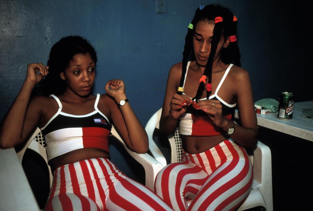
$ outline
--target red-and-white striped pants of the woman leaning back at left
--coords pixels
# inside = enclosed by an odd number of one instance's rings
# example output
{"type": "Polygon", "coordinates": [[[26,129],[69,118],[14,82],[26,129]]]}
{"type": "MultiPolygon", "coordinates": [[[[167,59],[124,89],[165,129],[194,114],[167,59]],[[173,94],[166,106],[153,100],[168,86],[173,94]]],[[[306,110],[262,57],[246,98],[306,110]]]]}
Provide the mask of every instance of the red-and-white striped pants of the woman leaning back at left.
{"type": "Polygon", "coordinates": [[[150,189],[127,178],[106,158],[92,158],[54,171],[46,211],[172,210],[150,189]]]}

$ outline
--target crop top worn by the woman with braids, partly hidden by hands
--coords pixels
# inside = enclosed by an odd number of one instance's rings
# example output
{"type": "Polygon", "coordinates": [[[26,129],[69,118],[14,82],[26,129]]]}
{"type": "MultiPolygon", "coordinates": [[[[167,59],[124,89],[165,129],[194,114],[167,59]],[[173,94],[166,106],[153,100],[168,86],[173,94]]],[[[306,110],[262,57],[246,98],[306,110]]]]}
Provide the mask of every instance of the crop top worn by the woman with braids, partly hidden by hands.
{"type": "MultiPolygon", "coordinates": [[[[186,81],[186,76],[188,72],[190,61],[187,64],[187,71],[185,74],[184,84],[186,81]]],[[[209,97],[209,99],[219,100],[222,104],[222,111],[223,115],[231,119],[232,114],[235,110],[236,103],[233,105],[228,104],[225,102],[222,98],[218,96],[218,90],[220,89],[221,85],[223,84],[230,68],[233,66],[233,64],[230,64],[228,68],[225,71],[225,74],[223,75],[222,80],[219,82],[218,87],[213,95],[209,97]]],[[[184,94],[184,93],[183,93],[184,94]]],[[[186,95],[186,94],[184,94],[186,95]]],[[[206,98],[199,99],[199,100],[205,100],[206,98]]],[[[198,100],[198,101],[199,101],[198,100]]],[[[208,117],[207,113],[205,113],[202,110],[194,109],[192,106],[188,106],[187,111],[182,114],[180,117],[179,122],[179,130],[181,135],[186,136],[216,136],[223,134],[223,130],[216,126],[214,122],[208,117]]]]}

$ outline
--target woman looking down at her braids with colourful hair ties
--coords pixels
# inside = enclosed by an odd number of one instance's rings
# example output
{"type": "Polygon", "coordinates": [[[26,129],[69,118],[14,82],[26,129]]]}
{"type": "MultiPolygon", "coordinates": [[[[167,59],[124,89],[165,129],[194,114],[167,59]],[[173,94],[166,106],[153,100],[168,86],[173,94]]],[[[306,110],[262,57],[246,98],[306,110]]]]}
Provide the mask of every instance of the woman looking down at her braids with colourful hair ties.
{"type": "Polygon", "coordinates": [[[242,146],[254,147],[258,133],[249,75],[240,68],[237,18],[220,5],[200,6],[188,28],[160,120],[169,134],[180,119],[182,162],[158,173],[155,192],[174,210],[234,210],[253,181],[242,146]],[[232,122],[236,105],[242,126],[232,122]],[[194,198],[189,207],[185,198],[194,198]]]}

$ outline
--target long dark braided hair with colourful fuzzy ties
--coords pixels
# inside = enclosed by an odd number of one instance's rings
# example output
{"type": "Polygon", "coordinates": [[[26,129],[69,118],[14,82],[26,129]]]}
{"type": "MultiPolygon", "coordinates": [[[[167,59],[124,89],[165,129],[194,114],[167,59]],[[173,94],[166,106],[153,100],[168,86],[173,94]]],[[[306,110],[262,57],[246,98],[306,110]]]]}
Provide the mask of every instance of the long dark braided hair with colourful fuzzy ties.
{"type": "MultiPolygon", "coordinates": [[[[182,94],[182,86],[184,83],[185,74],[187,71],[187,62],[190,54],[193,51],[193,35],[195,32],[196,25],[199,21],[206,21],[208,23],[214,23],[215,26],[213,29],[213,37],[211,42],[211,49],[210,54],[208,57],[208,62],[205,66],[205,70],[203,73],[204,78],[207,79],[208,85],[211,85],[212,80],[212,65],[213,65],[213,58],[216,53],[216,49],[218,43],[221,39],[221,36],[224,36],[226,40],[228,37],[234,37],[230,39],[231,42],[229,43],[227,48],[221,49],[220,58],[221,61],[225,64],[233,63],[237,66],[240,66],[240,54],[239,54],[239,47],[236,41],[237,36],[237,18],[230,12],[228,8],[224,8],[218,4],[211,4],[208,6],[200,6],[197,8],[194,18],[192,19],[192,25],[194,26],[192,29],[188,29],[188,33],[185,37],[185,46],[183,52],[183,59],[182,59],[182,76],[180,80],[180,87],[178,94],[182,94]],[[218,21],[215,19],[218,18],[218,21]]],[[[192,53],[192,58],[195,58],[194,52],[192,53]]],[[[203,79],[203,77],[202,77],[203,79]]],[[[196,101],[201,97],[203,90],[205,88],[204,83],[205,80],[202,80],[199,84],[197,94],[193,98],[196,101]]],[[[207,87],[207,99],[211,94],[211,89],[207,87]]]]}

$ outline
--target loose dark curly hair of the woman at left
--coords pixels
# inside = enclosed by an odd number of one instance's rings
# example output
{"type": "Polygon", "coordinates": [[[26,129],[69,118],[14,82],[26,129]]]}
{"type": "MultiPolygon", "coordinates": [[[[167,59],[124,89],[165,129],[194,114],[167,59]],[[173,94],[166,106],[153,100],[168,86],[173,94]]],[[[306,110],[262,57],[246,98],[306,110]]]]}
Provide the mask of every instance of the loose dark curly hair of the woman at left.
{"type": "Polygon", "coordinates": [[[80,36],[68,36],[60,39],[51,48],[47,66],[49,74],[42,82],[42,95],[60,95],[64,92],[66,82],[61,80],[60,73],[69,66],[69,62],[76,54],[89,53],[97,63],[97,54],[91,44],[80,36]]]}

